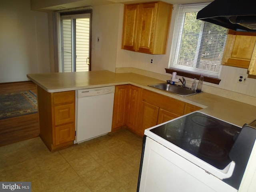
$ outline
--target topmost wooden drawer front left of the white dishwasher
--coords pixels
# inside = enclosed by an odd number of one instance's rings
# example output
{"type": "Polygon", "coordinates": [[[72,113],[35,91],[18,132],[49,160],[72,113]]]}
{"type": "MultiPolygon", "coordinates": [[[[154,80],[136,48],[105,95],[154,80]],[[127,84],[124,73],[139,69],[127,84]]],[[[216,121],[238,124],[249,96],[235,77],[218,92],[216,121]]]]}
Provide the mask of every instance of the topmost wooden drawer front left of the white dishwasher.
{"type": "Polygon", "coordinates": [[[72,103],[75,101],[74,91],[65,91],[54,93],[54,105],[63,103],[72,103]]]}

